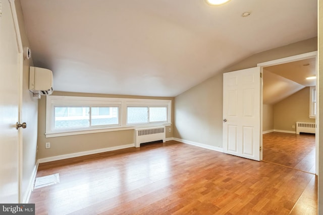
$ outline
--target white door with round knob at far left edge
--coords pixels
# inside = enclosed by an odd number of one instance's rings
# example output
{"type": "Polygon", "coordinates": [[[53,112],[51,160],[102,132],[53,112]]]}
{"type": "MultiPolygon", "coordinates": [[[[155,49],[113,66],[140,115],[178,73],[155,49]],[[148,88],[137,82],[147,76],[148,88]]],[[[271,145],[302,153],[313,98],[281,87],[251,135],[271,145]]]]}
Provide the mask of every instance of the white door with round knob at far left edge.
{"type": "MultiPolygon", "coordinates": [[[[2,1],[0,15],[0,202],[18,203],[19,195],[19,121],[21,91],[21,46],[17,40],[14,1],[2,1]],[[12,4],[12,5],[11,5],[12,4]],[[13,10],[13,11],[12,11],[13,10]]],[[[16,22],[17,24],[17,22],[16,22]]],[[[19,29],[18,29],[19,31],[19,29]]],[[[19,35],[20,36],[20,35],[19,35]]],[[[20,39],[20,38],[19,38],[20,39]]]]}

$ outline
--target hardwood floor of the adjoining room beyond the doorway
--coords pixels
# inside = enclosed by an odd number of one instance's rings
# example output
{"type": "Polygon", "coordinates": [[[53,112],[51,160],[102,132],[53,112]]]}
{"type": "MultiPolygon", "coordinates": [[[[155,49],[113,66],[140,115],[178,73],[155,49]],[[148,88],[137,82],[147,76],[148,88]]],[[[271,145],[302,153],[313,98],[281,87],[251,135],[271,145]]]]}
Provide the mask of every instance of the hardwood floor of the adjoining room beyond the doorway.
{"type": "Polygon", "coordinates": [[[271,132],[262,135],[262,160],[315,174],[315,135],[271,132]]]}

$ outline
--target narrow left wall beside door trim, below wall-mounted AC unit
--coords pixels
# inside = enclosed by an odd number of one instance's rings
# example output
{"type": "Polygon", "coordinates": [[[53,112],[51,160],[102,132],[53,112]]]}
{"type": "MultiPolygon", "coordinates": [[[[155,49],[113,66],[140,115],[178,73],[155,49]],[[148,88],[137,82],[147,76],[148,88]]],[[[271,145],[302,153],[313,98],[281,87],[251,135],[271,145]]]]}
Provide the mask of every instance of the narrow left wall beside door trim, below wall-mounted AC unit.
{"type": "MultiPolygon", "coordinates": [[[[15,1],[21,40],[23,47],[29,46],[29,41],[25,31],[23,13],[20,0],[15,1]]],[[[27,187],[30,183],[36,164],[37,147],[37,109],[38,100],[33,98],[29,88],[29,65],[33,65],[32,59],[25,59],[23,62],[23,105],[22,120],[27,123],[23,129],[23,168],[22,168],[22,196],[25,197],[27,187]]]]}

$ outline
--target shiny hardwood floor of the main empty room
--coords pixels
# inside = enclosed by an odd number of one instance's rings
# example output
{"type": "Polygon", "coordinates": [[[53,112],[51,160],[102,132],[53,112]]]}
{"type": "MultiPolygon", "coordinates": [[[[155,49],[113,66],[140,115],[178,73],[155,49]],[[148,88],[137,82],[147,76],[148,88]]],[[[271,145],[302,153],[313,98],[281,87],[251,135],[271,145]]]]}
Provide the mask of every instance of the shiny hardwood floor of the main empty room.
{"type": "Polygon", "coordinates": [[[31,194],[36,214],[317,213],[313,174],[177,141],[40,164],[37,177],[55,173],[31,194]]]}

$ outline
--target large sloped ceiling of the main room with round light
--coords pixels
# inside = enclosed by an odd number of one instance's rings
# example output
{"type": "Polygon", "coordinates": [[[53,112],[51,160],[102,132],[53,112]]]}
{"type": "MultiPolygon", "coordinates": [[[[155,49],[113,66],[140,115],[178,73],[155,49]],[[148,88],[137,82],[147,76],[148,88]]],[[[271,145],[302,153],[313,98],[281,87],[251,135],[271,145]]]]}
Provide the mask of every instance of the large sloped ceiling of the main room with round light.
{"type": "Polygon", "coordinates": [[[252,54],[317,36],[316,0],[21,4],[34,65],[53,71],[56,91],[176,96],[252,54]]]}

